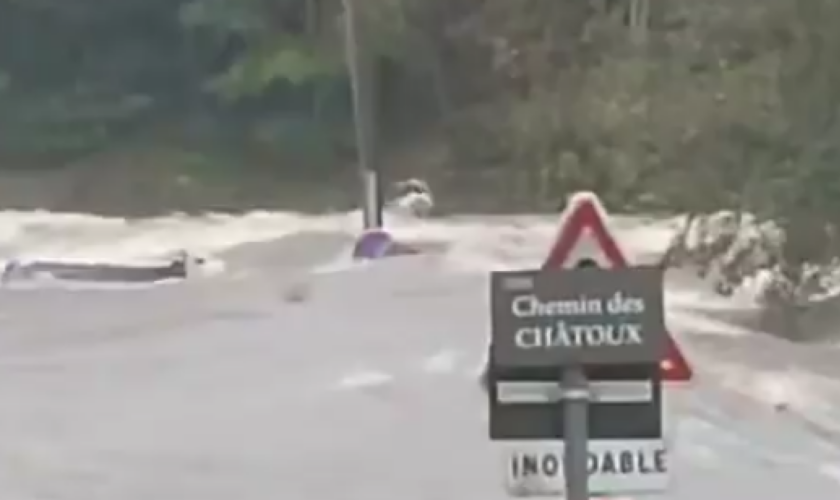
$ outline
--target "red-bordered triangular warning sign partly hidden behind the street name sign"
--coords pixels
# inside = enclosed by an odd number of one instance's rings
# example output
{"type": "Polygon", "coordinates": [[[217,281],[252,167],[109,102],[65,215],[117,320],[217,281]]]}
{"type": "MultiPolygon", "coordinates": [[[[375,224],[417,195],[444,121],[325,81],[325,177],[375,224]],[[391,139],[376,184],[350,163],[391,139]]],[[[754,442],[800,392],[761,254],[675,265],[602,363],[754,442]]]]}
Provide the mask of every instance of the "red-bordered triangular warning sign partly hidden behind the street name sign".
{"type": "MultiPolygon", "coordinates": [[[[627,258],[607,228],[606,221],[606,211],[594,193],[573,195],[543,268],[576,267],[583,259],[589,259],[602,268],[627,267],[627,258]]],[[[666,382],[687,382],[693,376],[688,360],[670,333],[661,367],[662,379],[666,382]]]]}

